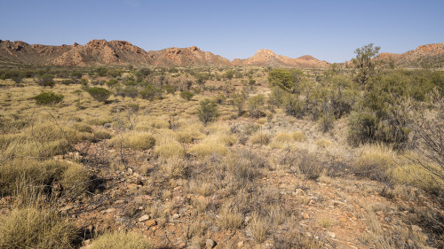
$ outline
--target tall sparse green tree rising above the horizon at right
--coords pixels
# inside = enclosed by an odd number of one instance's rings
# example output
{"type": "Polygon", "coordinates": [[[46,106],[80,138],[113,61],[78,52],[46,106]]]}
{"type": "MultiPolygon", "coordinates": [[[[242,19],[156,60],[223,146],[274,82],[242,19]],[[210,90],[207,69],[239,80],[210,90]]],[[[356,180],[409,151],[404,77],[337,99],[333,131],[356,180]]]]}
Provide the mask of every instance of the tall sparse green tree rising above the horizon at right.
{"type": "Polygon", "coordinates": [[[356,58],[353,58],[352,61],[356,70],[355,79],[362,88],[369,82],[369,78],[376,74],[374,58],[377,57],[380,49],[380,47],[373,47],[373,43],[369,43],[354,51],[356,58]]]}

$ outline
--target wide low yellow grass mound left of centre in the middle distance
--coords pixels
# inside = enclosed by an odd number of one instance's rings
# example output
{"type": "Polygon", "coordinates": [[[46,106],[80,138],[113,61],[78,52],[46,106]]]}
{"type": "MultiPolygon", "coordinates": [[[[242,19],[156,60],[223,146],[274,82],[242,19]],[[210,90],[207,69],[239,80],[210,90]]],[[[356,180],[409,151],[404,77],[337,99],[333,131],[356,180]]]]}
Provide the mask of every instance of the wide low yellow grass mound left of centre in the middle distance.
{"type": "Polygon", "coordinates": [[[147,132],[128,132],[114,136],[109,140],[116,149],[149,150],[155,146],[155,136],[147,132]]]}

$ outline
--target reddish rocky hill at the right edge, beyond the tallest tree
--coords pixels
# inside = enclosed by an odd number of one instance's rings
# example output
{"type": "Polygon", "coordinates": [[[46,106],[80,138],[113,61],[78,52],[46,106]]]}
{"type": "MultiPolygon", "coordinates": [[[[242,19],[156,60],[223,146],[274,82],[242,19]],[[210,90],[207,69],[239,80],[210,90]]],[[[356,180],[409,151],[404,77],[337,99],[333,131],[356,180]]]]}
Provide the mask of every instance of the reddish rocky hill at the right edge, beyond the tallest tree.
{"type": "Polygon", "coordinates": [[[444,43],[426,44],[405,53],[381,53],[377,59],[391,61],[395,66],[444,66],[444,43]]]}

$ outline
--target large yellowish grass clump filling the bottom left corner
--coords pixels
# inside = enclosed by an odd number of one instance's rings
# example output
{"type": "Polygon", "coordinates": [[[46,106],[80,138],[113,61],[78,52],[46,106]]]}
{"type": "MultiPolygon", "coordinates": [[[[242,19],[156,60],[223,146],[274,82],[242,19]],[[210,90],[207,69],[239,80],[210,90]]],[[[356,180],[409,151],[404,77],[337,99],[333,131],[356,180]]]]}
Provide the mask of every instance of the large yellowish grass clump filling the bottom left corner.
{"type": "Polygon", "coordinates": [[[75,227],[50,210],[14,209],[0,217],[0,248],[75,248],[75,227]]]}

